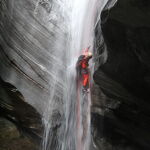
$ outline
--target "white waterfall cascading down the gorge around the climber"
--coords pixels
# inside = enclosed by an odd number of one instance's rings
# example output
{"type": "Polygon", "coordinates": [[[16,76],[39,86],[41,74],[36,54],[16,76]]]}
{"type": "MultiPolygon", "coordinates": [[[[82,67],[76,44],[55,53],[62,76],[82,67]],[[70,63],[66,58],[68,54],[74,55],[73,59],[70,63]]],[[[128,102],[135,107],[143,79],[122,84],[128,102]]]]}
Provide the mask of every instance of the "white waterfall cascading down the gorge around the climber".
{"type": "MultiPolygon", "coordinates": [[[[36,15],[41,2],[37,2],[36,15]]],[[[48,21],[54,19],[53,24],[58,29],[61,29],[62,23],[66,28],[63,30],[65,34],[61,36],[59,30],[56,30],[55,50],[50,51],[52,58],[49,67],[50,96],[43,114],[45,131],[42,149],[89,150],[91,94],[83,95],[81,87],[77,87],[75,64],[82,50],[88,46],[91,46],[91,52],[96,53],[93,51],[94,27],[108,0],[47,0],[47,2],[52,5],[53,15],[50,14],[43,19],[48,21]],[[61,23],[58,21],[60,19],[58,14],[63,18],[61,23]]],[[[91,70],[93,66],[90,65],[91,70]]]]}

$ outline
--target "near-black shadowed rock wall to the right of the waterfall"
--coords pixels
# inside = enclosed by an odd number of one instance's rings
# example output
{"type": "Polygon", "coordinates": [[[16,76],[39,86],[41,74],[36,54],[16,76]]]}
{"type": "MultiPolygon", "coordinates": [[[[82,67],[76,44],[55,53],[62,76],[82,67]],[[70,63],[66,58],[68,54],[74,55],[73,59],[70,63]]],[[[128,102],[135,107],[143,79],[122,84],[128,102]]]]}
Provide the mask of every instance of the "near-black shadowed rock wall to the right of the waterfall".
{"type": "Polygon", "coordinates": [[[116,149],[150,148],[149,15],[149,1],[118,0],[102,24],[108,59],[94,74],[102,96],[93,103],[93,124],[116,149]]]}

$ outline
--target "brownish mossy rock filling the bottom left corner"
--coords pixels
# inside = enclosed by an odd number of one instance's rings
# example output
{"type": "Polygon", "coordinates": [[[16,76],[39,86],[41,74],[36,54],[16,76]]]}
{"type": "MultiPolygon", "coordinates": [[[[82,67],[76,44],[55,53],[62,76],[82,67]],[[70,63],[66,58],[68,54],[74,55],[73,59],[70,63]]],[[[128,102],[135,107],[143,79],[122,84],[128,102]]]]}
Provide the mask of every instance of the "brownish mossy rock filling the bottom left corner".
{"type": "Polygon", "coordinates": [[[28,137],[20,134],[17,127],[0,117],[0,150],[37,150],[37,145],[28,137]]]}

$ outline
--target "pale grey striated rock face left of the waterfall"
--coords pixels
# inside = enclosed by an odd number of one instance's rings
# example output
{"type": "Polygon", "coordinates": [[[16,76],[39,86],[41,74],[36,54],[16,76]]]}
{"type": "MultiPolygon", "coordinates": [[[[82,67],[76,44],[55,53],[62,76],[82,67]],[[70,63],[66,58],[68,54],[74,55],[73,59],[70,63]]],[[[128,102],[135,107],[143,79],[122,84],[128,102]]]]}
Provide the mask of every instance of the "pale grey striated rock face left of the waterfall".
{"type": "Polygon", "coordinates": [[[0,1],[0,76],[40,113],[47,104],[50,79],[54,80],[51,69],[59,56],[55,50],[66,48],[59,10],[53,0],[0,1]]]}

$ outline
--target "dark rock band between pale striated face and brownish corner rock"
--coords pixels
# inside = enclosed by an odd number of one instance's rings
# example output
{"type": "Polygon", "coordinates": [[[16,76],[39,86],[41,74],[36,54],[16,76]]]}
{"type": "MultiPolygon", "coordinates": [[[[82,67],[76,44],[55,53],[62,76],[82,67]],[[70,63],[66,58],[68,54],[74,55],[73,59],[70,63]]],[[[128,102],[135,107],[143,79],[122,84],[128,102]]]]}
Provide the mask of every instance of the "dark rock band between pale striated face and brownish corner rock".
{"type": "Polygon", "coordinates": [[[21,131],[41,140],[42,121],[40,114],[24,101],[23,95],[11,84],[0,79],[0,114],[14,122],[21,131]]]}

